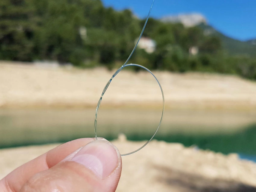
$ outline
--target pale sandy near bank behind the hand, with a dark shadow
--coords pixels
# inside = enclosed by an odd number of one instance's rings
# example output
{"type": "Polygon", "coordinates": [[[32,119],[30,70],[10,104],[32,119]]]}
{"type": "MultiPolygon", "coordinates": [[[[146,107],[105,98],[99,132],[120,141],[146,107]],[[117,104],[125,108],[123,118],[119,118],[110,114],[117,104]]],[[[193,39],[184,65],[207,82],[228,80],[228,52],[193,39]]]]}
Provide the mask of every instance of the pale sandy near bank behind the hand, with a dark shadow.
{"type": "MultiPolygon", "coordinates": [[[[120,151],[145,142],[113,141],[120,151]]],[[[0,150],[0,178],[30,159],[57,146],[18,147],[0,150]],[[15,158],[13,158],[15,156],[15,158]]],[[[152,141],[145,148],[123,156],[117,192],[161,191],[256,191],[256,164],[211,151],[185,148],[181,144],[152,141]]]]}

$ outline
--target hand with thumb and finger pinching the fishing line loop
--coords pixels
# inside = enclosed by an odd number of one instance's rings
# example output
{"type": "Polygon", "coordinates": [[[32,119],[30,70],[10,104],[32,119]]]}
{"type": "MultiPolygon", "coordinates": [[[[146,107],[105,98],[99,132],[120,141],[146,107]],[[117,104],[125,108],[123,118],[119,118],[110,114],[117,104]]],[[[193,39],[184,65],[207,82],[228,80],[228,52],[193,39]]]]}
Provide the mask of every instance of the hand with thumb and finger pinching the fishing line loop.
{"type": "Polygon", "coordinates": [[[112,192],[121,169],[121,156],[113,144],[81,138],[18,167],[0,181],[0,191],[112,192]]]}

